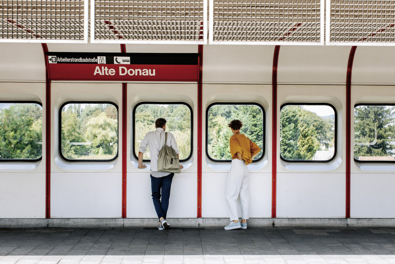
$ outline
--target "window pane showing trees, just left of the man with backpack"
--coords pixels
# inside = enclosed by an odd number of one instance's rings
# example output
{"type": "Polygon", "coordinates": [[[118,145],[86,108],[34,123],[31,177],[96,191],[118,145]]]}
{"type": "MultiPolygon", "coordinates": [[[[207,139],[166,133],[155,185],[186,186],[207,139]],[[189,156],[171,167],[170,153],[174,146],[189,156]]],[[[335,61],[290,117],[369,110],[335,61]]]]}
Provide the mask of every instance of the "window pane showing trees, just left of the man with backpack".
{"type": "Polygon", "coordinates": [[[59,111],[59,154],[65,161],[109,162],[118,157],[118,107],[112,102],[66,102],[59,111]]]}

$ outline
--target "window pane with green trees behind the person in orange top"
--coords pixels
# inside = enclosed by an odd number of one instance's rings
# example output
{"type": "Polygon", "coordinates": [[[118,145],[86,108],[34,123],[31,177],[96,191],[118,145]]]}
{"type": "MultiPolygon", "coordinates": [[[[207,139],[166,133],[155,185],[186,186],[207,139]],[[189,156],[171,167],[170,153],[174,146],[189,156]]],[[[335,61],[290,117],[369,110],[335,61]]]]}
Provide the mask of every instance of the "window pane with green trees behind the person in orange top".
{"type": "Polygon", "coordinates": [[[206,156],[213,162],[230,162],[229,122],[238,119],[243,123],[241,132],[262,150],[252,162],[264,157],[265,110],[257,103],[213,103],[206,111],[206,156]]]}

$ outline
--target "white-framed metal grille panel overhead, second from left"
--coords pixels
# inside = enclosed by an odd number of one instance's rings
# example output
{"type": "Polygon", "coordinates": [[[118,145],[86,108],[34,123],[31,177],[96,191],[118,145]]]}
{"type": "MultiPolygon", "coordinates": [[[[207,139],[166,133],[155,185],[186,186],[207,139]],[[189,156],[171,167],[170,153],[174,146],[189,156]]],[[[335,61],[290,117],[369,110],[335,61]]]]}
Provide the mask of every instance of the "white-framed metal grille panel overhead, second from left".
{"type": "Polygon", "coordinates": [[[206,0],[92,0],[91,7],[91,42],[206,43],[206,0]]]}

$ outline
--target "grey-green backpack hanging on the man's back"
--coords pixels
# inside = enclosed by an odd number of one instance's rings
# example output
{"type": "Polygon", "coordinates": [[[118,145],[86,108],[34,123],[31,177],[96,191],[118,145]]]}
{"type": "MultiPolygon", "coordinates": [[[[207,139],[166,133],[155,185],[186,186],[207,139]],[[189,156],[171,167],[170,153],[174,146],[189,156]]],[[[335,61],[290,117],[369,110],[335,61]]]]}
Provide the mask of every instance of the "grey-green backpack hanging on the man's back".
{"type": "Polygon", "coordinates": [[[180,161],[174,148],[166,145],[167,132],[164,133],[164,146],[158,155],[158,171],[168,173],[181,173],[180,161]]]}

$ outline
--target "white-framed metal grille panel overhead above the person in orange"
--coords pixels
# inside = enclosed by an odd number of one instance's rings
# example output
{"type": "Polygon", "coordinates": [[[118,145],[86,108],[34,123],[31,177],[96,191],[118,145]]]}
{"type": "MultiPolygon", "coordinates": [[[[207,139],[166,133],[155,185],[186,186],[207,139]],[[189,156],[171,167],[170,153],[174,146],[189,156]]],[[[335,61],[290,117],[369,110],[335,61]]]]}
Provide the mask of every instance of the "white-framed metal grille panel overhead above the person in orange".
{"type": "Polygon", "coordinates": [[[210,44],[323,44],[323,0],[210,0],[210,44]]]}

